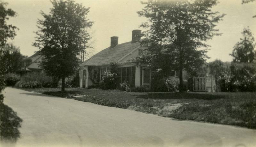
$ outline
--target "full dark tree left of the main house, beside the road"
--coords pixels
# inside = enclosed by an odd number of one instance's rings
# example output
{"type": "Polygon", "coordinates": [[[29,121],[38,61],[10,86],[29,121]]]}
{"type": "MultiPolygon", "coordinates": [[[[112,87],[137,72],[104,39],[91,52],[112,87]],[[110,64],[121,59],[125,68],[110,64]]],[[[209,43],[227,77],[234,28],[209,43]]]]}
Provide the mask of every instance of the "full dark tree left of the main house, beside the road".
{"type": "Polygon", "coordinates": [[[41,66],[49,76],[62,78],[61,90],[65,90],[65,77],[73,75],[78,67],[77,56],[90,40],[87,29],[93,22],[87,19],[89,8],[74,1],[52,1],[50,14],[41,12],[44,20],[38,20],[39,31],[34,46],[44,58],[41,66]]]}

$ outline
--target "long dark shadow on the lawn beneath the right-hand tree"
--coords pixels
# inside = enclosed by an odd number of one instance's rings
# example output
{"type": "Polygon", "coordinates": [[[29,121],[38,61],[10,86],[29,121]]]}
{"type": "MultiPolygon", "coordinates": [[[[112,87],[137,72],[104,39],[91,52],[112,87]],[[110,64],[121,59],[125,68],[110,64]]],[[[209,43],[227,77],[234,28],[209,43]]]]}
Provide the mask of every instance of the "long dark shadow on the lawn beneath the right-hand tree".
{"type": "Polygon", "coordinates": [[[145,93],[142,95],[135,95],[136,98],[144,99],[204,99],[204,100],[214,100],[221,99],[225,97],[224,95],[212,95],[212,94],[202,94],[202,93],[188,93],[188,92],[161,92],[161,93],[145,93]]]}

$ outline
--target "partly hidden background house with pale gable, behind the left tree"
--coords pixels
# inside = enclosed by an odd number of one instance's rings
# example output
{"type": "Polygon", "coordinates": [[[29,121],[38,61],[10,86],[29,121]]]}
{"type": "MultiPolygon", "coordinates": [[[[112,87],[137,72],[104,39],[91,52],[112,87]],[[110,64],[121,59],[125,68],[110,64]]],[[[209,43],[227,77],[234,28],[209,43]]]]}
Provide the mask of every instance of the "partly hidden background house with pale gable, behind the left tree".
{"type": "Polygon", "coordinates": [[[42,71],[43,69],[39,66],[43,55],[40,52],[36,52],[34,55],[23,60],[23,66],[21,71],[30,72],[30,71],[42,71]]]}

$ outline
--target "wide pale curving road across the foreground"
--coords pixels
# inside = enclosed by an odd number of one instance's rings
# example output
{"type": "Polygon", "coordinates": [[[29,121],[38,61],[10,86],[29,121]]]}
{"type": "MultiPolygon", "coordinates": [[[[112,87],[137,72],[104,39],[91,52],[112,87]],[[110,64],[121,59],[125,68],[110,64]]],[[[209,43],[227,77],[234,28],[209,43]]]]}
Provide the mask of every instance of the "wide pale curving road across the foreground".
{"type": "Polygon", "coordinates": [[[256,146],[252,129],[176,121],[10,87],[5,92],[4,104],[23,119],[16,147],[256,146]]]}

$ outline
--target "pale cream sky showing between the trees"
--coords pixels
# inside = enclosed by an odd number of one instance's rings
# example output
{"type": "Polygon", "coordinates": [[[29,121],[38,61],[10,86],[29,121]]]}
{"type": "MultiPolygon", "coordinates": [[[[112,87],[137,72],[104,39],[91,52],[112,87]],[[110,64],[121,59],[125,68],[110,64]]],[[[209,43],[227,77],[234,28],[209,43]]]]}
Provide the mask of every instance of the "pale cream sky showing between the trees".
{"type": "MultiPolygon", "coordinates": [[[[256,38],[256,2],[241,4],[242,0],[219,0],[219,4],[212,8],[212,11],[219,11],[226,14],[223,21],[220,21],[216,28],[221,36],[214,36],[206,43],[210,45],[207,55],[208,62],[220,59],[222,61],[232,61],[229,55],[233,47],[242,37],[243,28],[249,27],[256,38]]],[[[13,40],[8,40],[15,46],[20,47],[23,55],[31,56],[38,48],[32,46],[35,41],[37,20],[43,17],[40,11],[48,14],[52,3],[50,1],[6,1],[7,8],[17,12],[16,17],[10,18],[7,23],[17,26],[17,36],[13,40]]],[[[139,0],[83,0],[76,1],[85,7],[90,7],[88,18],[94,24],[88,31],[91,34],[91,43],[94,49],[88,50],[90,55],[110,46],[110,37],[118,36],[118,43],[129,42],[132,39],[132,30],[140,29],[139,25],[147,21],[144,17],[139,17],[137,11],[144,7],[139,0]]]]}

